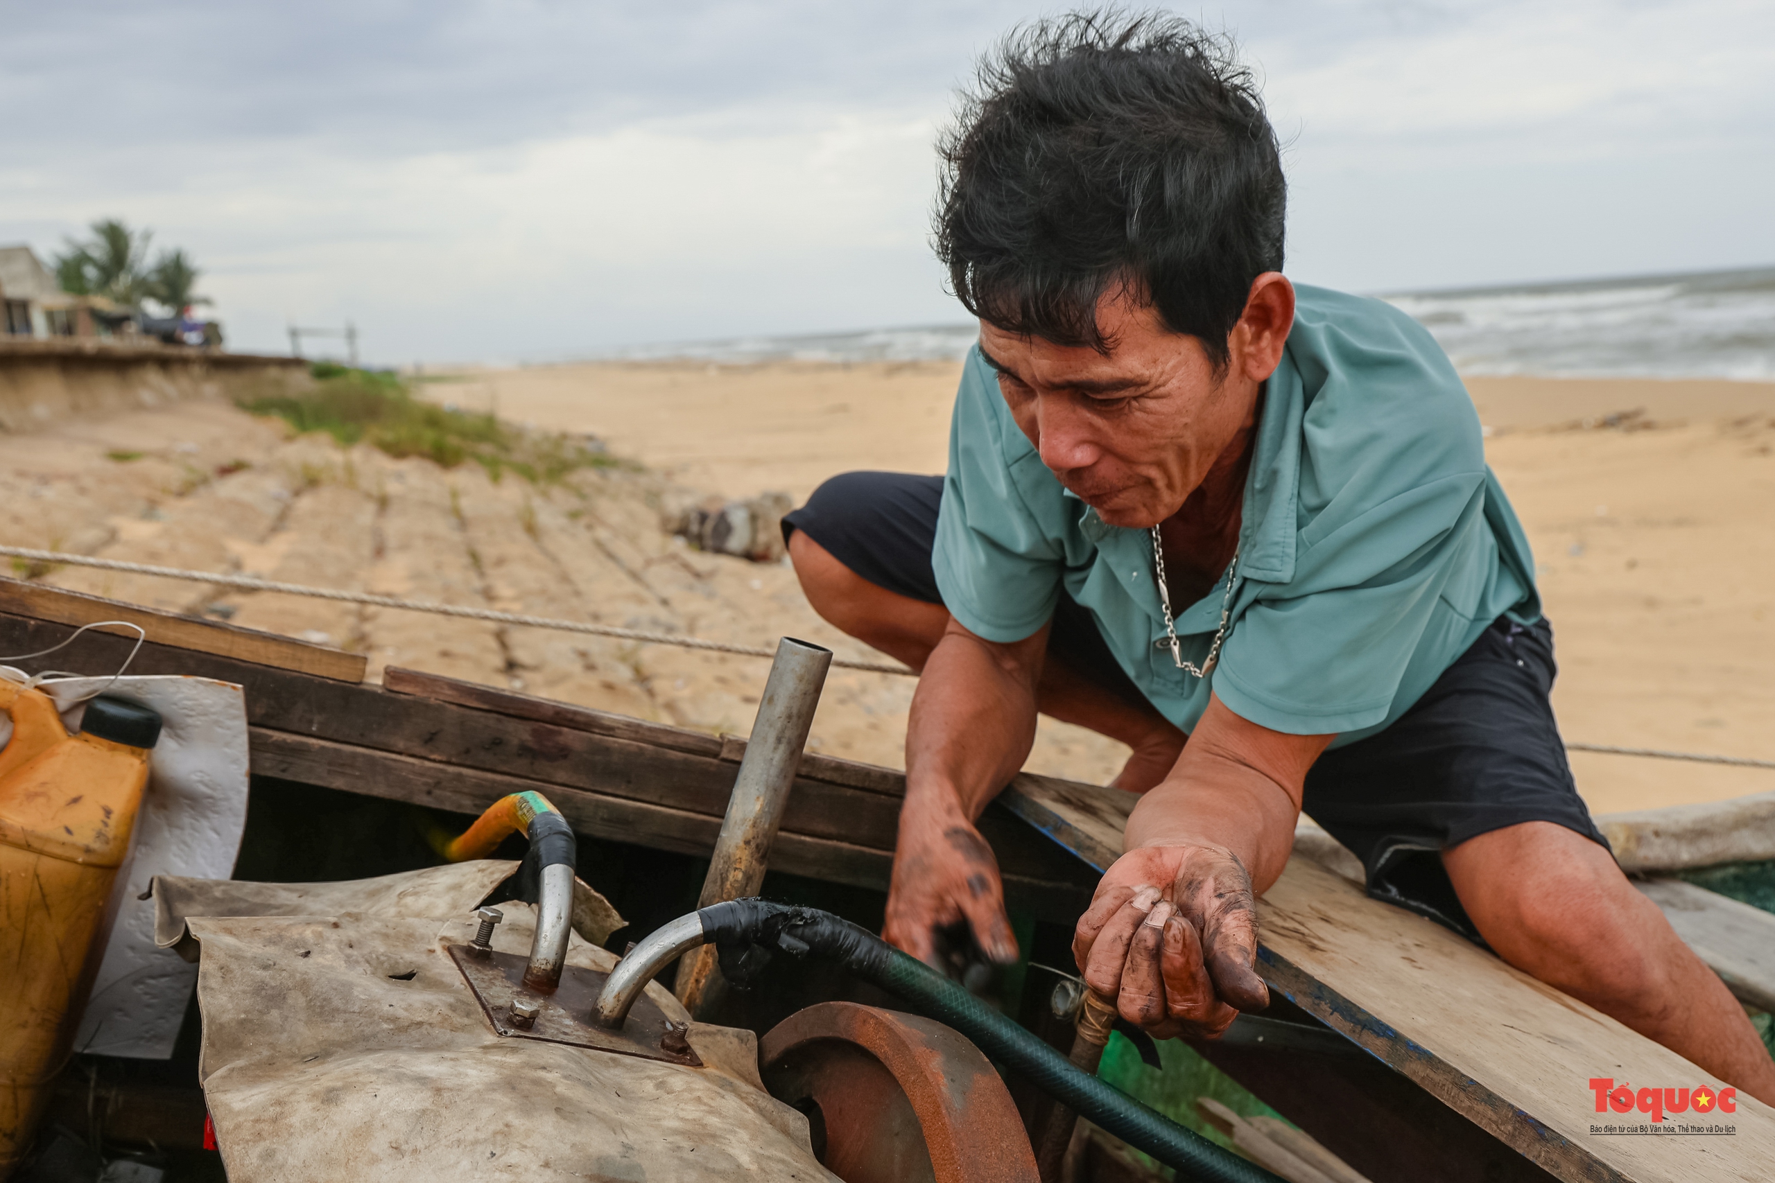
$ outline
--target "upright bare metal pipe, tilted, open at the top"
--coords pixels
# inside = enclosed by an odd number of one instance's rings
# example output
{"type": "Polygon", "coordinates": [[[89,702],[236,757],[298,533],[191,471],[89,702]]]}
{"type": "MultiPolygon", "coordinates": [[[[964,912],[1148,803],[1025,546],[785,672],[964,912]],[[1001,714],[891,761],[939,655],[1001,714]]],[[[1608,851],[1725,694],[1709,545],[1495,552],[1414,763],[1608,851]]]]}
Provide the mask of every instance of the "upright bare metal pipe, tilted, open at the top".
{"type": "MultiPolygon", "coordinates": [[[[831,649],[793,637],[777,642],[698,908],[758,894],[831,665],[831,649]]],[[[714,1006],[719,991],[714,947],[705,945],[678,963],[676,995],[692,1015],[714,1006]]]]}

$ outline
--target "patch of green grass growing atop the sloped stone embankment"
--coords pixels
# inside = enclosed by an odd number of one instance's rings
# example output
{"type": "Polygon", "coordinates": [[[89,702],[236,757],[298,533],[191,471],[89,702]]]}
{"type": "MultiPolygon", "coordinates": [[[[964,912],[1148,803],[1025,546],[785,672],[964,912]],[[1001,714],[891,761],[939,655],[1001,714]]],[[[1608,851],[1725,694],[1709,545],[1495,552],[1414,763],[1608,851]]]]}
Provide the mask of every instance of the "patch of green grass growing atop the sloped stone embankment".
{"type": "Polygon", "coordinates": [[[298,433],[325,431],[346,447],[369,443],[394,458],[422,456],[444,468],[474,461],[493,481],[515,472],[532,484],[556,484],[582,468],[621,465],[561,433],[415,399],[396,374],[332,362],[316,362],[311,372],[309,390],[248,397],[241,410],[275,415],[298,433]]]}

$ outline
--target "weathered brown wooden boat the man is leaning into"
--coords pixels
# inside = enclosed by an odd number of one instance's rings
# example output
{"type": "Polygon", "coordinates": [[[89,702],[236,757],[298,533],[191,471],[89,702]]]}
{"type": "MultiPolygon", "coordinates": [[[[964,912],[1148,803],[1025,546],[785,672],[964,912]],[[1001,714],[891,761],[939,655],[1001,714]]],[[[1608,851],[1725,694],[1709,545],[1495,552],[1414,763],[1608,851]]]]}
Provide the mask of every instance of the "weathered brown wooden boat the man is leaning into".
{"type": "MultiPolygon", "coordinates": [[[[417,670],[390,669],[382,685],[366,685],[362,656],[0,580],[0,651],[46,649],[105,619],[147,630],[133,674],[245,686],[252,789],[236,878],[360,878],[428,866],[435,855],[414,811],[469,816],[508,793],[540,789],[580,834],[582,876],[632,921],[618,940],[696,906],[740,738],[417,670]]],[[[87,633],[55,660],[115,669],[133,644],[87,633]]],[[[765,894],[879,924],[902,795],[898,772],[806,756],[765,894]]],[[[1021,775],[982,819],[1035,961],[1067,963],[1070,924],[1120,853],[1129,803],[1111,789],[1021,775]]],[[[1290,860],[1260,919],[1260,972],[1276,1004],[1267,1022],[1244,1034],[1235,1025],[1234,1038],[1196,1050],[1369,1179],[1755,1179],[1775,1160],[1775,1112],[1748,1098],[1732,1137],[1592,1135],[1587,1082],[1598,1073],[1686,1087],[1700,1084],[1690,1078],[1699,1069],[1429,921],[1369,899],[1310,858],[1290,860]]],[[[1768,931],[1775,917],[1748,940],[1768,931]]],[[[1745,954],[1745,938],[1731,940],[1734,956],[1745,954]]],[[[1745,990],[1775,981],[1771,949],[1775,942],[1740,958],[1745,990]]],[[[1006,1004],[1058,1039],[1065,1032],[1044,1018],[1051,979],[1022,968],[1006,977],[1006,1004]]],[[[847,991],[854,984],[831,974],[785,968],[728,1018],[765,1029],[847,991]]],[[[178,1146],[167,1114],[183,1114],[192,1128],[201,1109],[195,1077],[181,1082],[179,1071],[193,1073],[193,1061],[181,1068],[176,1057],[153,1087],[140,1085],[154,1073],[119,1071],[137,1084],[133,1093],[106,1085],[106,1096],[121,1098],[110,1133],[137,1130],[178,1146]]],[[[78,1119],[85,1101],[87,1085],[69,1085],[62,1117],[78,1119]]],[[[1097,1178],[1134,1178],[1116,1176],[1134,1171],[1125,1160],[1099,1167],[1097,1178]]]]}

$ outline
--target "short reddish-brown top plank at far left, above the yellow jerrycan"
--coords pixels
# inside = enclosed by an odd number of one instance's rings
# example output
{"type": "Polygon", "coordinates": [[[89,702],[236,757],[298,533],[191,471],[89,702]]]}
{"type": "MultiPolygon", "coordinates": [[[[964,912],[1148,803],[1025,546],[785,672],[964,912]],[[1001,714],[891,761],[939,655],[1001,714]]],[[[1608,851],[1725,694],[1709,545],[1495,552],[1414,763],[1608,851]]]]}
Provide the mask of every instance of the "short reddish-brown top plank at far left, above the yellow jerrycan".
{"type": "MultiPolygon", "coordinates": [[[[53,621],[57,624],[92,624],[94,621],[128,621],[138,624],[147,639],[160,646],[213,653],[236,662],[252,662],[273,669],[295,670],[332,681],[360,683],[367,658],[360,653],[328,649],[256,628],[197,621],[160,608],[142,608],[119,599],[87,596],[25,580],[0,578],[0,612],[53,621]]],[[[130,630],[105,630],[135,637],[130,630]]]]}

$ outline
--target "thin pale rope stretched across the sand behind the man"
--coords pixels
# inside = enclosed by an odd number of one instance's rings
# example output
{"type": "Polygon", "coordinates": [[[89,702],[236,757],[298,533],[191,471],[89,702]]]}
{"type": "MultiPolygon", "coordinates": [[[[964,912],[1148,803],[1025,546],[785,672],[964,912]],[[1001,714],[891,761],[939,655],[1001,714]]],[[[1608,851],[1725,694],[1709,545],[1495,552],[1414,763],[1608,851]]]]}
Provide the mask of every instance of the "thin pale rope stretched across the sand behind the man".
{"type": "MultiPolygon", "coordinates": [[[[169,580],[190,580],[193,584],[215,584],[217,587],[238,587],[241,591],[270,591],[284,596],[312,596],[314,599],[341,599],[344,603],[364,603],[375,608],[399,608],[403,612],[433,612],[437,615],[458,615],[469,621],[492,621],[493,624],[522,624],[524,628],[554,628],[564,633],[591,633],[593,637],[614,637],[648,646],[678,646],[682,649],[705,649],[708,653],[737,653],[747,658],[774,658],[774,649],[760,646],[730,646],[722,640],[703,640],[701,637],[678,637],[674,633],[650,633],[639,628],[612,628],[609,624],[586,624],[584,621],[556,621],[545,615],[524,615],[520,612],[495,612],[492,608],[463,608],[451,603],[422,603],[419,599],[398,599],[394,596],[371,596],[369,592],[335,591],[332,587],[304,587],[302,584],[279,584],[250,575],[215,575],[211,571],[183,571],[179,568],[156,568],[146,562],[122,562],[119,559],[96,559],[92,555],[69,555],[59,550],[28,550],[25,546],[0,546],[0,555],[12,559],[30,559],[34,562],[60,562],[76,568],[99,568],[101,571],[126,571],[130,575],[158,575],[169,580]]],[[[911,674],[903,665],[886,662],[847,662],[834,656],[832,665],[840,669],[866,670],[870,674],[911,674]]],[[[1610,743],[1567,743],[1569,752],[1601,752],[1605,756],[1644,756],[1649,759],[1681,759],[1693,764],[1731,764],[1736,768],[1775,768],[1775,759],[1750,759],[1745,756],[1716,756],[1713,752],[1661,752],[1658,748],[1626,748],[1610,743]]]]}

